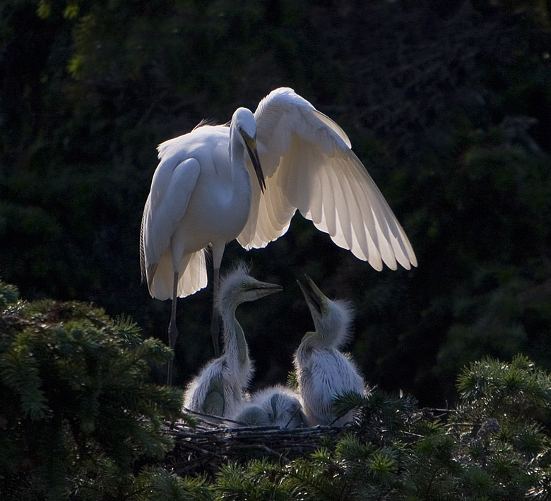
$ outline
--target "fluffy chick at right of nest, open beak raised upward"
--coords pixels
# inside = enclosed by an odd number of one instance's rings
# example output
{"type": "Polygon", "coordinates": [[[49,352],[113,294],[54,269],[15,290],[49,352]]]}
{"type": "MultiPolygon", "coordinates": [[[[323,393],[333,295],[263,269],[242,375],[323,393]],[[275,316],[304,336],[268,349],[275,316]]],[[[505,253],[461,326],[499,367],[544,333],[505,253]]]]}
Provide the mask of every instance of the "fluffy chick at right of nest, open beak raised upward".
{"type": "Polygon", "coordinates": [[[309,425],[343,425],[352,413],[335,421],[331,403],[345,392],[364,393],[364,381],[350,358],[339,348],[348,339],[352,311],[345,301],[331,301],[308,276],[298,282],[308,304],[315,332],[304,334],[295,354],[295,370],[302,406],[309,425]]]}

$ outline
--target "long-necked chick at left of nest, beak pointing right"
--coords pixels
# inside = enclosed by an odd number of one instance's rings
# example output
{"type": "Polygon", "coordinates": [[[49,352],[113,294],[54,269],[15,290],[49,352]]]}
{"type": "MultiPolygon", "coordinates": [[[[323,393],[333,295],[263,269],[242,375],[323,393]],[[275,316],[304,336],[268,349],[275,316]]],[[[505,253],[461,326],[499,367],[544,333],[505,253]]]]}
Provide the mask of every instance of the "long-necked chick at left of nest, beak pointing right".
{"type": "Polygon", "coordinates": [[[281,286],[259,282],[239,265],[220,283],[216,307],[223,322],[224,350],[220,358],[208,362],[191,380],[184,394],[184,407],[213,416],[229,417],[241,402],[249,385],[253,366],[241,325],[235,318],[237,306],[268,296],[281,286]]]}

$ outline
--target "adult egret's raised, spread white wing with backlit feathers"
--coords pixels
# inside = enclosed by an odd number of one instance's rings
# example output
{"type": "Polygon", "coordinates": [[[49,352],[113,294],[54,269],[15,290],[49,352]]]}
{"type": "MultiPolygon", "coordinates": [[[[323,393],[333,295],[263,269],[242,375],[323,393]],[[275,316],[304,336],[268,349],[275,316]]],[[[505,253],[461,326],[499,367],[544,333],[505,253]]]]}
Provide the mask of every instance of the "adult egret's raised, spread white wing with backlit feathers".
{"type": "MultiPolygon", "coordinates": [[[[295,211],[333,242],[376,270],[417,266],[415,253],[389,204],[328,116],[292,89],[273,90],[254,113],[266,191],[252,183],[249,221],[237,238],[259,248],[288,230],[295,211]]],[[[247,167],[251,171],[250,161],[247,167]]]]}

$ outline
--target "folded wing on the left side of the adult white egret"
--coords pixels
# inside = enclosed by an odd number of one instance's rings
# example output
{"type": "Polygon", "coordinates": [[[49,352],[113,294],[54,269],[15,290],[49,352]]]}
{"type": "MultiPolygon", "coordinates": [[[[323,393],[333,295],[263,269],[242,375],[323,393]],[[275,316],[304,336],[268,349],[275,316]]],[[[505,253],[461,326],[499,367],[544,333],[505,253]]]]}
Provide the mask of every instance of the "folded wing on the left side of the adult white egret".
{"type": "MultiPolygon", "coordinates": [[[[171,157],[163,159],[153,175],[143,209],[140,238],[142,275],[153,297],[172,297],[174,270],[170,239],[184,217],[200,171],[196,159],[179,161],[171,157]]],[[[196,259],[201,260],[201,256],[196,259]]]]}

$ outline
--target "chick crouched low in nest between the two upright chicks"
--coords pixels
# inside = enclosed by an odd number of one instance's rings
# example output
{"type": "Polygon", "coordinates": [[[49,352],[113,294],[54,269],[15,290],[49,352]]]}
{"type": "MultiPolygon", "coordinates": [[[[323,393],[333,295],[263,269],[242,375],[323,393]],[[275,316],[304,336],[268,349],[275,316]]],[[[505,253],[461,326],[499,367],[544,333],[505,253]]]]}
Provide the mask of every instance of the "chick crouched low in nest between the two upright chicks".
{"type": "Polygon", "coordinates": [[[278,428],[299,428],[306,425],[300,400],[295,392],[283,385],[260,390],[250,400],[237,406],[232,417],[240,423],[251,426],[278,426],[278,428]]]}

